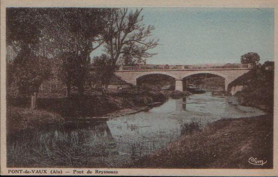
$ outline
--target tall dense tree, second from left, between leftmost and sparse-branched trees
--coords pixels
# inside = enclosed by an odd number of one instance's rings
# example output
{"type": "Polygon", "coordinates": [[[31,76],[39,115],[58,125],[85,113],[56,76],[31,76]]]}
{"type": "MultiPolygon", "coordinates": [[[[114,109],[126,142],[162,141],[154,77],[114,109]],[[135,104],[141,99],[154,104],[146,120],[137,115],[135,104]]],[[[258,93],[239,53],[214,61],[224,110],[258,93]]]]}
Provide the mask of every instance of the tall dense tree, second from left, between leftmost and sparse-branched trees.
{"type": "Polygon", "coordinates": [[[54,50],[58,50],[57,56],[62,58],[62,73],[67,73],[67,78],[62,79],[66,81],[68,95],[72,85],[83,95],[90,53],[104,42],[101,34],[107,12],[107,9],[95,8],[55,8],[47,19],[54,50]]]}

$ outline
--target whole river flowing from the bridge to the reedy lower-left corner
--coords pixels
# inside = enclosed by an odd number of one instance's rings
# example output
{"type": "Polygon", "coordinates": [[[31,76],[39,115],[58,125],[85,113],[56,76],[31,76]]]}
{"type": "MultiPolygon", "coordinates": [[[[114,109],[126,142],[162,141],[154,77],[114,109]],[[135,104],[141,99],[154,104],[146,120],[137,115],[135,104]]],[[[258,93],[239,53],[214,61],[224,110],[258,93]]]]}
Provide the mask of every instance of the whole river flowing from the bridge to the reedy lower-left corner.
{"type": "Polygon", "coordinates": [[[149,110],[104,122],[22,132],[8,139],[8,166],[125,167],[176,140],[186,123],[202,127],[222,118],[263,114],[239,105],[234,96],[210,92],[168,99],[149,110]]]}

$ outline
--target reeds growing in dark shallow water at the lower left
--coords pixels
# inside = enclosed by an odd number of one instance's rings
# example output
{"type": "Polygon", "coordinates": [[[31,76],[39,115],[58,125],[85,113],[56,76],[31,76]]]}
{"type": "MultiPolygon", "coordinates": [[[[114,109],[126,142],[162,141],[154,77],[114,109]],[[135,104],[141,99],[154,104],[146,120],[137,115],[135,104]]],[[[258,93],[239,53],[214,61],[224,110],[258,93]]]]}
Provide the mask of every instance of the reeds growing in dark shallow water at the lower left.
{"type": "MultiPolygon", "coordinates": [[[[107,125],[97,125],[90,139],[90,146],[86,139],[86,131],[78,129],[69,133],[62,129],[56,133],[49,131],[32,132],[25,134],[31,142],[8,142],[8,167],[92,167],[104,166],[115,149],[107,151],[110,143],[109,136],[98,136],[97,133],[105,132],[107,125]],[[86,157],[84,157],[84,153],[86,157]],[[107,157],[107,158],[104,158],[107,157]]],[[[112,157],[111,157],[112,160],[112,157]]],[[[111,162],[112,163],[112,162],[111,162]]]]}

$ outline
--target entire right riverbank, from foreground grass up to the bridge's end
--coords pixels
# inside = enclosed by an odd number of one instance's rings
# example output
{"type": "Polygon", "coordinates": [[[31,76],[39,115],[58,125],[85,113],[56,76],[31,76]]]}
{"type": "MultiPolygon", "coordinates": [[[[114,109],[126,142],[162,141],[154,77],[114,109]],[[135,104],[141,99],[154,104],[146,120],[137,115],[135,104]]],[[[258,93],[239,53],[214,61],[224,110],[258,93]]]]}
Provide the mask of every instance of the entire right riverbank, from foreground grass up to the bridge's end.
{"type": "MultiPolygon", "coordinates": [[[[167,148],[136,161],[135,167],[156,168],[272,168],[273,160],[273,85],[274,66],[266,62],[237,78],[228,92],[245,106],[264,110],[267,115],[222,119],[181,135],[167,148]],[[237,90],[242,88],[241,90],[237,90]],[[267,161],[254,165],[249,158],[267,161]]],[[[213,94],[223,94],[221,91],[213,94]]]]}

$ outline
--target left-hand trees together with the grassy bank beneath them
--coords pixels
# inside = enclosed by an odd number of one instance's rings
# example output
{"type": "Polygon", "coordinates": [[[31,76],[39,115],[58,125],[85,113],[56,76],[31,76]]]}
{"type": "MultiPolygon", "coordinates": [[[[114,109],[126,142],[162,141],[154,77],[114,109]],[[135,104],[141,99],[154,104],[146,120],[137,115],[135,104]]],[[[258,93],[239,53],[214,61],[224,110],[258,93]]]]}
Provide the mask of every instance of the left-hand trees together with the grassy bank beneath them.
{"type": "Polygon", "coordinates": [[[28,129],[38,126],[36,122],[59,123],[61,116],[97,116],[165,101],[153,90],[108,90],[111,83],[125,84],[114,75],[119,63],[136,63],[156,54],[149,52],[158,45],[152,37],[154,26],[144,24],[141,12],[8,8],[7,120],[28,129]],[[91,58],[100,46],[103,54],[91,58]]]}

